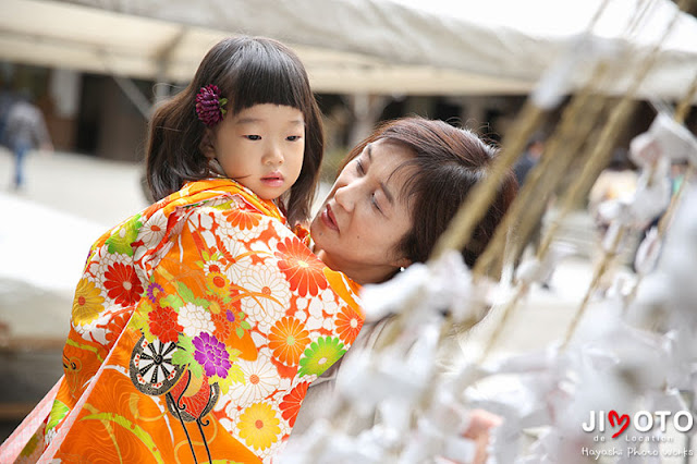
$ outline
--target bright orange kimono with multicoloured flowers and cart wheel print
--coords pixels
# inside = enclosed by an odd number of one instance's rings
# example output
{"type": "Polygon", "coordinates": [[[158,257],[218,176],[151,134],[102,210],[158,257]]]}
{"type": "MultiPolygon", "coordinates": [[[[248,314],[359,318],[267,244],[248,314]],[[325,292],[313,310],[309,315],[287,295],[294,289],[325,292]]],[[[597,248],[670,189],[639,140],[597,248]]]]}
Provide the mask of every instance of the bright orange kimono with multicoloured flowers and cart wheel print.
{"type": "Polygon", "coordinates": [[[284,223],[219,179],[102,235],[75,292],[65,374],[0,461],[269,462],[364,320],[357,285],[284,223]]]}

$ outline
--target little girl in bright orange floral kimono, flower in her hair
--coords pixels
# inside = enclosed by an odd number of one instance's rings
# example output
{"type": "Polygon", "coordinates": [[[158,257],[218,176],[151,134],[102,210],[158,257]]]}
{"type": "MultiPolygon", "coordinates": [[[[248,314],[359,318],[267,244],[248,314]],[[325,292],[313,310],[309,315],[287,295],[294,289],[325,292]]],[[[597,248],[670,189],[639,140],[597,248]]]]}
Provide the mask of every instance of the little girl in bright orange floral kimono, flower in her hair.
{"type": "Polygon", "coordinates": [[[93,245],[65,375],[0,462],[270,459],[363,323],[355,286],[288,227],[307,219],[321,155],[295,53],[216,45],[154,114],[158,202],[93,245]]]}

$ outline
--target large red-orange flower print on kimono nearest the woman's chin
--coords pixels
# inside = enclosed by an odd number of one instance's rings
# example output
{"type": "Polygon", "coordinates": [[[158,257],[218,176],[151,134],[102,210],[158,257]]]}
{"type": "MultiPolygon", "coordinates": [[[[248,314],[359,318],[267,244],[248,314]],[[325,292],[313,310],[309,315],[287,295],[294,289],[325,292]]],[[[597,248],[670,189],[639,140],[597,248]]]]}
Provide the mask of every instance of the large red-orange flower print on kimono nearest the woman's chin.
{"type": "Polygon", "coordinates": [[[286,237],[277,248],[279,269],[291,283],[291,290],[297,290],[301,296],[308,293],[317,296],[320,290],[327,289],[325,265],[299,240],[286,237]]]}

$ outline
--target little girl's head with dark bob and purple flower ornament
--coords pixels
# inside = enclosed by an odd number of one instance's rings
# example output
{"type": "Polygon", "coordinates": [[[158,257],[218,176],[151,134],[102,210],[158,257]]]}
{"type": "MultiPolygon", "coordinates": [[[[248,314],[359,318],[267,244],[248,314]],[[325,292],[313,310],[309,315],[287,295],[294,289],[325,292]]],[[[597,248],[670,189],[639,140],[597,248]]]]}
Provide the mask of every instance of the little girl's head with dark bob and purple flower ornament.
{"type": "Polygon", "coordinates": [[[321,117],[303,64],[284,45],[261,38],[218,44],[188,87],[155,113],[149,135],[148,184],[155,199],[187,181],[222,175],[262,199],[289,191],[279,204],[289,222],[308,218],[322,160],[321,117]],[[292,172],[285,173],[288,155],[292,172]],[[265,164],[261,172],[252,171],[257,162],[265,164]],[[283,179],[266,169],[277,163],[283,179]]]}

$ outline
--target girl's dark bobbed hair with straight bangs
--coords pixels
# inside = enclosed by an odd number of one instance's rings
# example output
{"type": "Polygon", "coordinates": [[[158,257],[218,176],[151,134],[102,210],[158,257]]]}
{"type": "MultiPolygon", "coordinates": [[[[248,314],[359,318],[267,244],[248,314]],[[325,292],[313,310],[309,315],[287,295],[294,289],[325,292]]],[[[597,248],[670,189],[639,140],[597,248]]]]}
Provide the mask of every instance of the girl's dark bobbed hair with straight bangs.
{"type": "Polygon", "coordinates": [[[196,94],[217,85],[227,110],[234,115],[255,105],[298,109],[305,119],[305,155],[285,209],[289,222],[306,219],[315,197],[323,152],[321,113],[303,63],[283,44],[264,37],[227,38],[204,57],[194,80],[157,108],[149,123],[147,180],[155,199],[180,190],[185,182],[211,175],[199,145],[206,125],[196,115],[196,94]]]}

